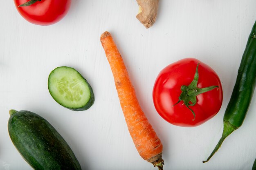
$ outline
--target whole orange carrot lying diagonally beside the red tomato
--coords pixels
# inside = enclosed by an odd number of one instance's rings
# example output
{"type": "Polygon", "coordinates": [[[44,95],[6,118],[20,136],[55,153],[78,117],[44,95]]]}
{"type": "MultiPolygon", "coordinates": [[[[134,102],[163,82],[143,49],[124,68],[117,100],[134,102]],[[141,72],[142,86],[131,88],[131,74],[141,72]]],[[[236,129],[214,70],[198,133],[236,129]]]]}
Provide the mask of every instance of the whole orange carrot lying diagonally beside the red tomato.
{"type": "Polygon", "coordinates": [[[124,61],[110,33],[101,35],[101,44],[115,79],[121,108],[135,147],[143,159],[162,170],[162,143],[141,110],[124,61]]]}

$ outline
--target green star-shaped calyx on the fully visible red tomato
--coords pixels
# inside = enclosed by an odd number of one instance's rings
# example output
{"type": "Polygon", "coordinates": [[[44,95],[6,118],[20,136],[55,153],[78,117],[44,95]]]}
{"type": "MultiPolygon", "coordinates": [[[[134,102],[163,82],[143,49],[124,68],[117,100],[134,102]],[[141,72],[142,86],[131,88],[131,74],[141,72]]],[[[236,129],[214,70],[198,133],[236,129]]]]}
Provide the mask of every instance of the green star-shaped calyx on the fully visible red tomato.
{"type": "MultiPolygon", "coordinates": [[[[198,65],[196,66],[196,70],[195,70],[195,76],[193,81],[189,84],[189,86],[186,85],[182,85],[180,90],[182,91],[182,93],[180,94],[179,97],[179,101],[176,103],[180,103],[181,101],[183,101],[184,105],[189,108],[189,110],[193,113],[194,119],[195,120],[195,113],[194,111],[189,107],[189,106],[195,106],[196,104],[196,96],[200,95],[202,93],[205,93],[207,91],[211,91],[214,88],[219,88],[219,86],[209,86],[209,87],[205,87],[205,88],[198,88],[198,66],[200,63],[198,63],[198,65]]],[[[176,104],[174,104],[173,106],[175,106],[176,104]]]]}

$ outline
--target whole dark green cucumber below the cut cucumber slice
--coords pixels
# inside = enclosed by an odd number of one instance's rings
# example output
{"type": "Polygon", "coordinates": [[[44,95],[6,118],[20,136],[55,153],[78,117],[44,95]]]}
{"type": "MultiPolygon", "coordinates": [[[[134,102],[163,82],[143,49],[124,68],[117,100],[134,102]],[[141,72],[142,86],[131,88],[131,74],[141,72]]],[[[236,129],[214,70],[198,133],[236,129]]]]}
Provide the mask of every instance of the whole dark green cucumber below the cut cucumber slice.
{"type": "Polygon", "coordinates": [[[73,151],[47,120],[27,110],[10,110],[8,131],[35,170],[81,170],[73,151]]]}

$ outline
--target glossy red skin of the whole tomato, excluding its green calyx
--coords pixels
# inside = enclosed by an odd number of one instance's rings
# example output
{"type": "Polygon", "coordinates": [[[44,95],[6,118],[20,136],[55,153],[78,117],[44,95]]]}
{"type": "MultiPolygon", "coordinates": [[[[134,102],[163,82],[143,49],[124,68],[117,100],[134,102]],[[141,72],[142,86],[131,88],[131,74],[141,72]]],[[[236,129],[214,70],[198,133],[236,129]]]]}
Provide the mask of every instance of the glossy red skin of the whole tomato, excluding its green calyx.
{"type": "Polygon", "coordinates": [[[180,87],[188,86],[195,75],[196,66],[200,61],[195,58],[185,58],[166,66],[157,76],[153,88],[153,102],[159,115],[173,125],[193,127],[203,124],[218,113],[222,105],[222,86],[220,78],[207,64],[200,62],[198,66],[198,88],[219,86],[211,91],[197,96],[197,103],[190,108],[192,112],[182,105],[177,105],[181,94],[180,87]]]}

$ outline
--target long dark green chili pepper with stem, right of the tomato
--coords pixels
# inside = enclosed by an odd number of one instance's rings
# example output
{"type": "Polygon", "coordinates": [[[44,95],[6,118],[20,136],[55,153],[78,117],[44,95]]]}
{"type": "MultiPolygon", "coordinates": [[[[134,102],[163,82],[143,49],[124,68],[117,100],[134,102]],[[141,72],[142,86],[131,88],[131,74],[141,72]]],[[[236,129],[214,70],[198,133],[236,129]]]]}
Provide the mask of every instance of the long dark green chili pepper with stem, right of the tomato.
{"type": "Polygon", "coordinates": [[[247,45],[238,69],[236,84],[231,99],[224,114],[223,133],[217,146],[211,155],[204,162],[209,161],[215,152],[220,148],[222,142],[234,130],[242,126],[247,110],[249,108],[256,85],[256,22],[249,35],[247,45]]]}

